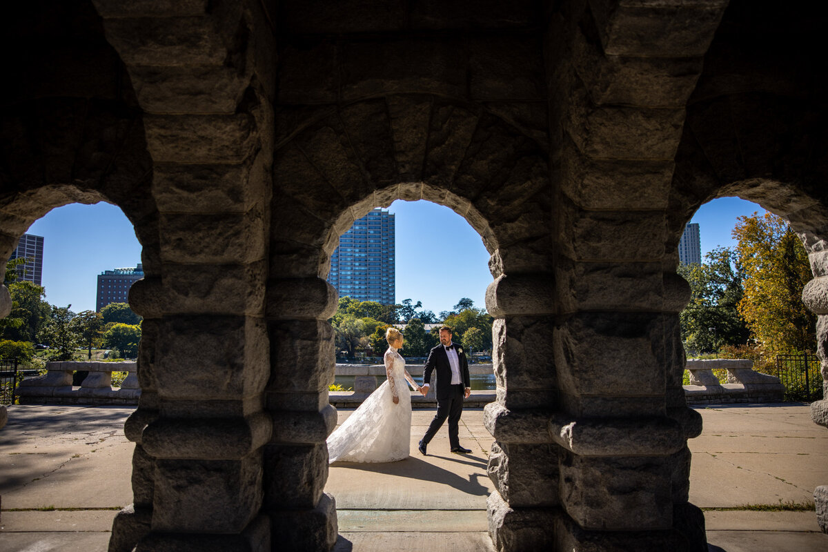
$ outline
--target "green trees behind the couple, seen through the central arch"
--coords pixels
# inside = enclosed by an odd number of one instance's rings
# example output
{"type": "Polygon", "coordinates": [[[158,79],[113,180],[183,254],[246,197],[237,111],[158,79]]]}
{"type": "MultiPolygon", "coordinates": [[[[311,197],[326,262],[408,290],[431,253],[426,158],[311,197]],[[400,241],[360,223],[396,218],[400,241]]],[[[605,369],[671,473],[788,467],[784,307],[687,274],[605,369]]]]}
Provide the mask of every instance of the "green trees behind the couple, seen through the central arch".
{"type": "Polygon", "coordinates": [[[376,301],[340,297],[330,324],[334,328],[337,357],[353,359],[359,355],[381,356],[388,343],[385,332],[391,325],[405,324],[403,353],[407,357],[425,357],[440,343],[439,326],[426,331],[426,324],[447,325],[453,329],[452,338],[469,353],[485,352],[492,348],[493,319],[485,309],[474,307],[474,301],[464,297],[453,310],[434,314],[424,310],[421,301],[402,300],[397,305],[381,305],[376,301]]]}

